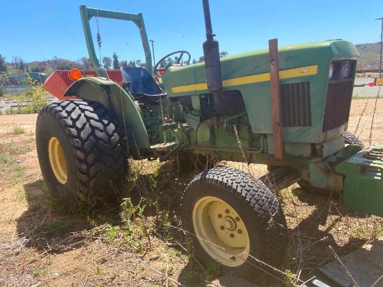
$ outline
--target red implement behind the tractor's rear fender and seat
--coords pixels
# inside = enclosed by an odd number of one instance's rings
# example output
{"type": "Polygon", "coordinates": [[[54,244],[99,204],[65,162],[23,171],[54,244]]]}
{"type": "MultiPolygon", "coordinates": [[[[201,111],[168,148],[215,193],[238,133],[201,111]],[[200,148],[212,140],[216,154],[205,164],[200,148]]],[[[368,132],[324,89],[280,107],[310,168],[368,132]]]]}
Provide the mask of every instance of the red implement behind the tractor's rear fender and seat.
{"type": "MultiPolygon", "coordinates": [[[[42,88],[47,92],[54,95],[59,100],[63,99],[75,99],[76,97],[64,97],[66,90],[68,90],[69,86],[74,83],[68,76],[69,71],[56,71],[52,75],[50,75],[46,80],[42,88]]],[[[84,71],[81,71],[83,73],[84,71]]],[[[118,85],[122,85],[123,76],[121,76],[121,71],[119,69],[109,69],[107,70],[109,78],[112,81],[118,83],[118,85]]],[[[86,71],[86,76],[97,76],[95,71],[86,71]]]]}

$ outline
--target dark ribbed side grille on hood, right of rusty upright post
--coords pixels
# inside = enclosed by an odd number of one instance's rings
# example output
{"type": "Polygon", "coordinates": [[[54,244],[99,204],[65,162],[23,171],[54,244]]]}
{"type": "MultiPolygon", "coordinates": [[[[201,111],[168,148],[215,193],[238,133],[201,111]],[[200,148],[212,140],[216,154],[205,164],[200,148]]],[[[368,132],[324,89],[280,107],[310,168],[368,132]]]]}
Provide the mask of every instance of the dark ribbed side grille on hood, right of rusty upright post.
{"type": "Polygon", "coordinates": [[[310,83],[280,85],[282,126],[311,126],[310,83]]]}

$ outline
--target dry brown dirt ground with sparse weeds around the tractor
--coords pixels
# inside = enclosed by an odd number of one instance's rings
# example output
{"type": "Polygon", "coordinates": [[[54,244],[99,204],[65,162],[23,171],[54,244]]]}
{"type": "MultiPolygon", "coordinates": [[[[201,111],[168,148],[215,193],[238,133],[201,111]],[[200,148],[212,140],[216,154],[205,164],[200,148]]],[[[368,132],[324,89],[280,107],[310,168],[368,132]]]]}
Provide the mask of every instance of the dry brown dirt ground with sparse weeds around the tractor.
{"type": "MultiPolygon", "coordinates": [[[[365,145],[382,144],[382,110],[383,99],[354,99],[348,130],[365,145]]],[[[40,173],[36,119],[0,116],[0,286],[197,286],[206,284],[201,278],[214,279],[201,275],[209,270],[187,252],[185,238],[157,229],[136,238],[136,245],[124,241],[119,206],[97,214],[60,211],[40,173]]],[[[265,172],[263,166],[251,168],[265,172]]],[[[175,178],[166,188],[182,195],[191,179],[175,178]]],[[[315,269],[334,260],[329,245],[342,256],[383,233],[382,218],[351,211],[341,199],[308,195],[297,185],[282,190],[281,198],[290,233],[283,271],[299,279],[320,276],[315,269]]],[[[177,220],[178,211],[171,212],[166,214],[177,220]]]]}

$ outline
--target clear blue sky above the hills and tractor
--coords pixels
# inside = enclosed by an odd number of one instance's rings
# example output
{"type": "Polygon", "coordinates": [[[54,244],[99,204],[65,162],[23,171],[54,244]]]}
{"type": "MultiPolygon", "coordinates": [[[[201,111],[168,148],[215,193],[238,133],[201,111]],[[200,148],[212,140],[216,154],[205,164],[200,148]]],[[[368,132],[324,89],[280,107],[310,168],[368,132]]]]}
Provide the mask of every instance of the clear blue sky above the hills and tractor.
{"type": "MultiPolygon", "coordinates": [[[[18,0],[1,1],[0,54],[11,61],[68,60],[88,57],[79,6],[143,13],[148,38],[155,40],[155,58],[185,49],[198,59],[205,40],[202,0],[18,0]]],[[[212,28],[220,51],[229,55],[265,49],[268,40],[279,45],[349,40],[354,44],[380,42],[382,0],[364,5],[354,0],[210,0],[212,28]]],[[[93,38],[97,33],[91,20],[93,38]]],[[[144,61],[139,31],[131,22],[99,19],[101,56],[144,61]]],[[[96,44],[97,47],[97,44],[96,44]]],[[[97,47],[97,55],[99,55],[97,47]]]]}

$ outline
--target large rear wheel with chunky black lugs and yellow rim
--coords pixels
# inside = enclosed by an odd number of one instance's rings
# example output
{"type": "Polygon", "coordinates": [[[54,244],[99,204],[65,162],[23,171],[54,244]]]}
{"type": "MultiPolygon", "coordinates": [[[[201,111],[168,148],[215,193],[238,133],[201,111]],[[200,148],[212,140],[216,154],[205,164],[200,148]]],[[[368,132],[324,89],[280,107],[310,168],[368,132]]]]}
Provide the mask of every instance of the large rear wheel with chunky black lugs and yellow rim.
{"type": "Polygon", "coordinates": [[[95,101],[58,101],[42,108],[36,147],[49,192],[68,211],[111,199],[127,174],[123,133],[95,101]]]}

